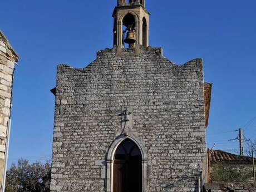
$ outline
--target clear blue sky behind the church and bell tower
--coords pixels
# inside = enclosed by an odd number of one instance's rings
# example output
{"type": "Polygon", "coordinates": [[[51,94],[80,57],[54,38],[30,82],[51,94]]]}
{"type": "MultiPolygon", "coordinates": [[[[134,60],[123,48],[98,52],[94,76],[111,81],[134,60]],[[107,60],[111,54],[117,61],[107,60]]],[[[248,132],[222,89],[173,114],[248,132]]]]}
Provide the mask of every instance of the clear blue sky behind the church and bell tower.
{"type": "MultiPolygon", "coordinates": [[[[0,29],[21,60],[13,90],[9,164],[51,156],[56,66],[86,67],[96,51],[112,47],[116,0],[8,0],[0,29]]],[[[177,64],[204,59],[213,83],[208,146],[233,151],[239,127],[256,116],[256,1],[146,1],[150,45],[177,64]]],[[[254,119],[255,120],[255,119],[254,119]]],[[[256,139],[256,120],[244,135],[256,139]]]]}

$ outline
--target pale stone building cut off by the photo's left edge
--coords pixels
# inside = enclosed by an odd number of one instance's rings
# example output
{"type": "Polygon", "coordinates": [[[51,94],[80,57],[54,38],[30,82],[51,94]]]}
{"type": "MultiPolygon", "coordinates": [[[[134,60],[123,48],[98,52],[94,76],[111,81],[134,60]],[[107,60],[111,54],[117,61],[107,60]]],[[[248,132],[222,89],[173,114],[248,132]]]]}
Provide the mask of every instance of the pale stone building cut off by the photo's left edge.
{"type": "Polygon", "coordinates": [[[7,160],[9,126],[12,104],[12,85],[18,55],[0,31],[0,184],[4,183],[7,160]]]}

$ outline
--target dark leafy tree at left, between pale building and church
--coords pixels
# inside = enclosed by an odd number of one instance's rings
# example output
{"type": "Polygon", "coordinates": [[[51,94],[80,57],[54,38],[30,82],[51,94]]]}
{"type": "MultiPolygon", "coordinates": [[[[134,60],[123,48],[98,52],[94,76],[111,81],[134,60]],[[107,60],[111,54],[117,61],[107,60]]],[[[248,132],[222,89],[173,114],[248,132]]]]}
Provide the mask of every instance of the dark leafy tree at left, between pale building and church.
{"type": "Polygon", "coordinates": [[[6,174],[6,192],[48,192],[50,191],[51,165],[40,162],[29,164],[19,159],[6,174]]]}

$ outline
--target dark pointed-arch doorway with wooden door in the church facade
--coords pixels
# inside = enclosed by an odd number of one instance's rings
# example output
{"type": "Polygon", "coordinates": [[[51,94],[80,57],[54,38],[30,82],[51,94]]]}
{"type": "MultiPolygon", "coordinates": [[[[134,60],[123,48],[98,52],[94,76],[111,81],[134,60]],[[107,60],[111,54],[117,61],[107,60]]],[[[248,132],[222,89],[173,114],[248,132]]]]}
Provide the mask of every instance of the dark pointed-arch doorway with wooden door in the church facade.
{"type": "Polygon", "coordinates": [[[142,191],[142,156],[134,141],[125,139],[114,156],[114,192],[142,191]]]}

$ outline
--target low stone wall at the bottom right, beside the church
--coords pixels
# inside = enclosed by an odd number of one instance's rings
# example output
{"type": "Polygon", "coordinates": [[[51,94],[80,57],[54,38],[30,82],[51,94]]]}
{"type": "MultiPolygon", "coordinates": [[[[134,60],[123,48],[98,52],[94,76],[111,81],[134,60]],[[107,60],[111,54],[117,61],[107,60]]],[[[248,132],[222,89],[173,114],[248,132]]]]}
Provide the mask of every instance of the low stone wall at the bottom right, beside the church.
{"type": "Polygon", "coordinates": [[[243,183],[207,183],[203,192],[256,192],[256,184],[243,183]]]}

